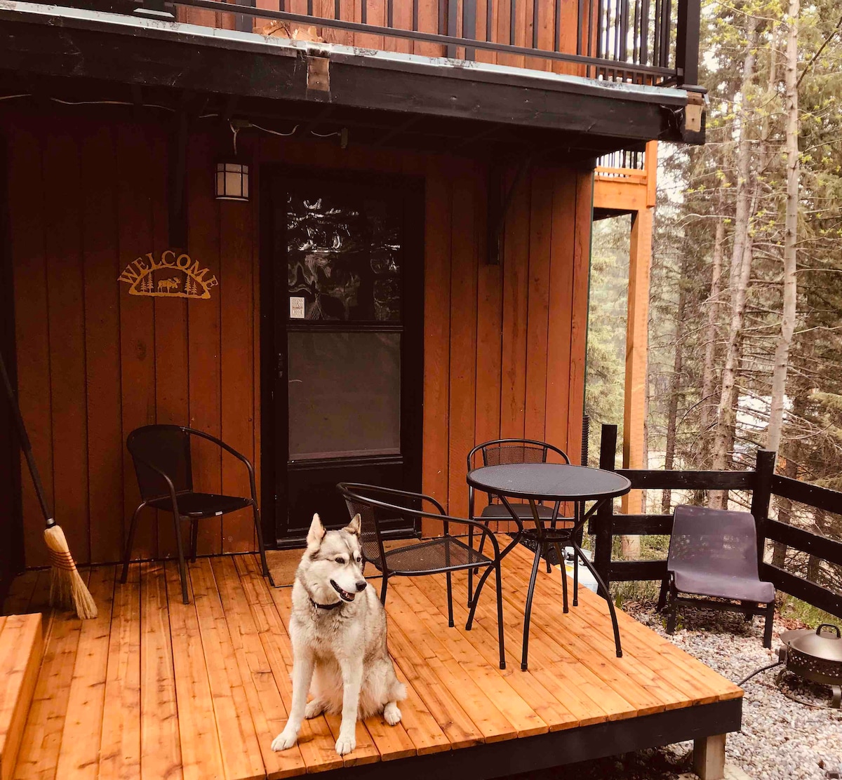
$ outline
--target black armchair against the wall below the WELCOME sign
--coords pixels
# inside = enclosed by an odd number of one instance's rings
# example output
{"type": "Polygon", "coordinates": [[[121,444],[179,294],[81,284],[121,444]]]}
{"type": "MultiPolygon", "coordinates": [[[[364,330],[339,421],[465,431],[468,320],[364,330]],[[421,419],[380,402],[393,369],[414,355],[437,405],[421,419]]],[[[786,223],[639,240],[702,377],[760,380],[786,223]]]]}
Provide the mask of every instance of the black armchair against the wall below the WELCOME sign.
{"type": "Polygon", "coordinates": [[[179,549],[179,574],[181,576],[181,595],[184,603],[189,603],[187,595],[187,570],[184,565],[184,549],[181,543],[181,524],[179,520],[186,518],[190,522],[190,555],[196,560],[196,544],[199,536],[199,520],[203,517],[217,517],[238,509],[252,507],[254,528],[258,536],[260,561],[263,565],[264,576],[274,585],[266,564],[266,549],[264,548],[263,532],[260,528],[260,512],[258,510],[257,487],[254,482],[254,469],[245,455],[229,447],[209,433],[196,431],[180,425],[147,425],[136,428],[125,440],[125,446],[131,454],[135,464],[137,485],[141,491],[141,503],[131,517],[129,538],[125,544],[123,557],[123,574],[121,582],[125,582],[129,574],[131,560],[131,546],[135,540],[137,519],[141,509],[152,507],[173,513],[175,539],[179,549]],[[251,496],[217,496],[214,493],[197,493],[193,489],[193,462],[190,456],[190,438],[199,437],[216,444],[217,447],[232,454],[242,461],[248,470],[248,480],[251,485],[251,496]]]}

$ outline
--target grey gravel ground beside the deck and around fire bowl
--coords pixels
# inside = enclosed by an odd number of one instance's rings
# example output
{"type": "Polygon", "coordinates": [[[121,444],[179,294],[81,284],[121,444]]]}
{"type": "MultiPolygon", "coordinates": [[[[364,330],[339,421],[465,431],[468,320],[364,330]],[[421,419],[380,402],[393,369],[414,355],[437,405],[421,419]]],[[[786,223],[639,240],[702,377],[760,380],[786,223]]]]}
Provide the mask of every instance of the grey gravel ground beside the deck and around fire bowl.
{"type": "MultiPolygon", "coordinates": [[[[658,634],[667,636],[663,618],[651,605],[626,604],[626,612],[658,634]]],[[[772,650],[763,647],[763,618],[746,623],[737,613],[687,610],[670,639],[723,677],[738,682],[760,666],[777,661],[778,631],[804,628],[775,620],[772,650]]],[[[775,685],[781,667],[761,672],[745,683],[743,730],[728,735],[727,761],[754,780],[828,780],[842,777],[842,711],[791,701],[775,685]]],[[[813,702],[829,700],[829,688],[803,684],[788,672],[782,678],[791,692],[813,702]]],[[[670,746],[667,756],[682,756],[691,745],[670,746]]],[[[681,771],[681,770],[679,770],[681,771]]],[[[608,777],[607,775],[605,777],[608,777]]],[[[626,777],[616,774],[613,777],[626,777]]],[[[627,777],[650,777],[629,774],[627,777]]],[[[664,777],[660,769],[653,778],[664,777]]]]}

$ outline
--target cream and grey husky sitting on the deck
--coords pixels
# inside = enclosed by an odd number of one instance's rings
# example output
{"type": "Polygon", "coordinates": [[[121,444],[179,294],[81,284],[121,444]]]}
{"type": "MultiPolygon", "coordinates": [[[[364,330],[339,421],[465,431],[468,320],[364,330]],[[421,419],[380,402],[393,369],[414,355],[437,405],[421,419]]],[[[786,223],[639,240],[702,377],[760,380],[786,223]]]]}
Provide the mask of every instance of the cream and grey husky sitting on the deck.
{"type": "Polygon", "coordinates": [[[382,713],[397,724],[407,697],[386,650],[386,611],[363,577],[360,515],[341,531],[325,531],[313,515],[307,549],[292,586],[292,707],[273,751],[296,744],[301,719],[342,713],[340,756],[356,747],[357,718],[382,713]],[[307,703],[307,692],[313,699],[307,703]]]}

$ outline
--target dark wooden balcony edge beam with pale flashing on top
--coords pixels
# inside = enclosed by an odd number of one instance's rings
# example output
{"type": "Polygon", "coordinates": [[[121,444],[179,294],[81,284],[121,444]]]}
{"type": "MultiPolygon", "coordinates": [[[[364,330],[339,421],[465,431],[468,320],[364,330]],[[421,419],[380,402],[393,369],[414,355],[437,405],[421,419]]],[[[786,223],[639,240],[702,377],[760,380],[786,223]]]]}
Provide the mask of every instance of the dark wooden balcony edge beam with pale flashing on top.
{"type": "MultiPolygon", "coordinates": [[[[685,131],[682,89],[270,38],[195,24],[0,0],[0,89],[82,80],[200,93],[303,119],[361,113],[415,134],[488,136],[594,155],[685,131]],[[328,88],[313,77],[327,69],[328,88]],[[309,74],[309,84],[308,84],[309,74]],[[314,87],[321,88],[314,88],[314,87]],[[281,107],[283,110],[280,110],[281,107]],[[486,130],[483,131],[483,128],[486,130]],[[455,132],[458,130],[458,132],[455,132]]],[[[392,131],[392,135],[397,135],[392,131]]],[[[469,153],[469,151],[466,151],[469,153]]]]}

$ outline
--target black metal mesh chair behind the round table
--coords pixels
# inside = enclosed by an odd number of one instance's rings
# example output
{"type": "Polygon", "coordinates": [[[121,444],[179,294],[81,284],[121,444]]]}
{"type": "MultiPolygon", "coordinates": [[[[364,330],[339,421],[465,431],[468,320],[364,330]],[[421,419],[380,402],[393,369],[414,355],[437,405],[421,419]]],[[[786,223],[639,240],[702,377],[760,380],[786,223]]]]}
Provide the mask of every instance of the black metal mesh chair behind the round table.
{"type": "MultiPolygon", "coordinates": [[[[554,447],[552,444],[546,442],[539,442],[536,439],[530,438],[498,438],[490,442],[483,442],[477,444],[475,448],[468,453],[468,471],[482,466],[498,466],[512,463],[546,463],[546,459],[550,453],[555,453],[561,459],[562,463],[570,463],[567,453],[563,450],[554,447]]],[[[492,521],[510,521],[512,519],[509,509],[499,503],[495,496],[488,496],[488,506],[482,509],[479,516],[475,512],[475,491],[471,486],[468,486],[468,517],[472,520],[479,520],[488,527],[488,523],[492,521]]],[[[518,503],[516,501],[509,501],[509,507],[521,520],[532,520],[532,509],[529,504],[518,503]]],[[[553,507],[547,507],[544,504],[537,504],[536,510],[538,517],[541,520],[548,520],[551,528],[556,528],[557,523],[572,522],[572,517],[559,517],[559,504],[556,503],[553,507]]],[[[482,539],[480,540],[480,551],[482,552],[482,539]]],[[[468,544],[473,546],[473,529],[468,528],[468,544]]],[[[558,552],[557,552],[558,557],[558,552]]],[[[568,609],[568,592],[567,592],[567,578],[564,575],[564,561],[559,560],[558,563],[562,566],[562,584],[564,586],[564,611],[568,609]]],[[[574,557],[573,569],[576,576],[574,581],[578,583],[578,558],[574,557]]],[[[546,557],[546,571],[549,574],[551,568],[549,551],[546,557]]],[[[468,574],[468,601],[471,600],[472,593],[472,572],[468,574]]],[[[576,603],[576,596],[574,594],[573,602],[576,603]]]]}

